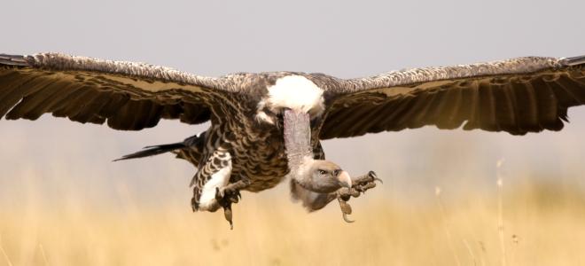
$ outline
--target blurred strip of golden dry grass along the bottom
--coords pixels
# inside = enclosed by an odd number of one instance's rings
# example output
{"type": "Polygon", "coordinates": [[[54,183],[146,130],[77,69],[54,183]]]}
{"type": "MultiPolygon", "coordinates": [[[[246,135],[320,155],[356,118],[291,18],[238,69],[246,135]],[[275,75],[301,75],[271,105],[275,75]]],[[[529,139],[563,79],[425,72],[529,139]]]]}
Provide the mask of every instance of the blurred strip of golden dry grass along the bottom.
{"type": "Polygon", "coordinates": [[[344,223],[336,204],[307,214],[245,193],[233,231],[221,213],[172,200],[16,202],[0,209],[0,265],[585,265],[585,192],[525,184],[447,195],[411,204],[371,192],[344,223]]]}

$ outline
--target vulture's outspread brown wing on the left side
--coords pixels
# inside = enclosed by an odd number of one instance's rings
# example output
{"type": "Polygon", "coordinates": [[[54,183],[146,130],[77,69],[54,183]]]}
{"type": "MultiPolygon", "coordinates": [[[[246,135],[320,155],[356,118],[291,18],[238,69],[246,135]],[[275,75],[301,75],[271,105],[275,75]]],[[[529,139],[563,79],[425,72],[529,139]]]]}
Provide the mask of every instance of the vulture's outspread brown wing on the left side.
{"type": "Polygon", "coordinates": [[[0,54],[0,119],[52,113],[122,130],[151,128],[161,118],[196,124],[212,116],[214,94],[234,92],[222,82],[144,63],[0,54]]]}

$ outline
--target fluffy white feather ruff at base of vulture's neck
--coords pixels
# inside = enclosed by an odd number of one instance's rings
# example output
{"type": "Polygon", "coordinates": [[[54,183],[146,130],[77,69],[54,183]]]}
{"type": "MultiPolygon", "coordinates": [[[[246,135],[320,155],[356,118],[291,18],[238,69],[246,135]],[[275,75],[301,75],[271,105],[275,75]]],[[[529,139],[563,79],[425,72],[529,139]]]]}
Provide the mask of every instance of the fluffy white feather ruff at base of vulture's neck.
{"type": "Polygon", "coordinates": [[[312,114],[324,110],[323,89],[304,76],[287,75],[279,78],[268,90],[269,98],[266,103],[275,113],[283,108],[312,114]]]}

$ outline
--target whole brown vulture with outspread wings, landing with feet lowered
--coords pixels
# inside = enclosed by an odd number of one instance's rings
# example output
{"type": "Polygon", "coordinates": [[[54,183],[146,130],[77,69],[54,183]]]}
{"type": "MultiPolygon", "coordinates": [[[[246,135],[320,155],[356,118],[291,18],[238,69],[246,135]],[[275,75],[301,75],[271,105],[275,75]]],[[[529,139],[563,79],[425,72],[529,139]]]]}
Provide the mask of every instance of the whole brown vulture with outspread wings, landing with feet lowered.
{"type": "Polygon", "coordinates": [[[165,66],[60,53],[0,54],[0,119],[71,121],[140,130],[160,119],[209,128],[181,142],[147,146],[119,160],[175,153],[197,168],[193,211],[223,209],[240,191],[287,179],[309,211],[374,188],[373,171],[350,176],[325,160],[320,141],[417,129],[483,129],[512,135],[563,129],[585,104],[585,56],[525,57],[424,67],[355,79],[301,72],[204,77],[165,66]]]}

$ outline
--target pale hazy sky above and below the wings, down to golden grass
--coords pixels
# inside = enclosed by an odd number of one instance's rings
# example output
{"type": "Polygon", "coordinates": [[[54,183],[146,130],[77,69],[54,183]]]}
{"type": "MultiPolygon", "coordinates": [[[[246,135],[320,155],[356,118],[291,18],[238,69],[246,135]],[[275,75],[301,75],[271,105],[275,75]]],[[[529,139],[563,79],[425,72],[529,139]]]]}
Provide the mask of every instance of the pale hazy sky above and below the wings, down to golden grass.
{"type": "MultiPolygon", "coordinates": [[[[585,54],[585,2],[575,1],[5,1],[0,52],[59,51],[144,61],[201,75],[293,70],[338,77],[538,55],[585,54]]],[[[324,143],[353,174],[373,169],[378,195],[507,178],[585,172],[585,108],[559,133],[416,129],[324,143]]],[[[161,122],[120,132],[43,116],[0,121],[0,194],[75,190],[107,198],[121,186],[156,201],[190,197],[193,169],[171,156],[112,163],[144,145],[174,142],[202,126],[161,122]],[[24,176],[27,176],[26,178],[24,176]],[[26,182],[23,180],[27,180],[26,182]],[[113,189],[116,188],[116,189],[113,189]]],[[[574,177],[577,178],[574,178],[574,177]]],[[[552,178],[552,177],[550,177],[552,178]]],[[[286,195],[287,197],[287,195],[286,195]]],[[[184,198],[184,199],[183,199],[184,198]]],[[[1,200],[6,200],[0,196],[1,200]]]]}

